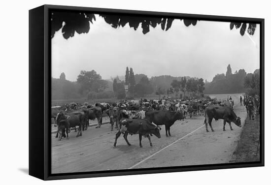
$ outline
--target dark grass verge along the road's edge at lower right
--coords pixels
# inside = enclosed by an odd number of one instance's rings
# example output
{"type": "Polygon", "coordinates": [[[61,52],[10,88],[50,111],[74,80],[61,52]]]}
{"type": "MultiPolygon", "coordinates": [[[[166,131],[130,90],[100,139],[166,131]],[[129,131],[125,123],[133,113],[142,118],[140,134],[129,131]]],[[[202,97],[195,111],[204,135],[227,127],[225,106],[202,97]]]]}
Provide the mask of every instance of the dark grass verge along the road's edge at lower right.
{"type": "Polygon", "coordinates": [[[230,162],[260,161],[260,146],[258,148],[258,154],[256,155],[259,138],[260,115],[257,115],[255,120],[249,120],[247,118],[236,151],[230,162]]]}

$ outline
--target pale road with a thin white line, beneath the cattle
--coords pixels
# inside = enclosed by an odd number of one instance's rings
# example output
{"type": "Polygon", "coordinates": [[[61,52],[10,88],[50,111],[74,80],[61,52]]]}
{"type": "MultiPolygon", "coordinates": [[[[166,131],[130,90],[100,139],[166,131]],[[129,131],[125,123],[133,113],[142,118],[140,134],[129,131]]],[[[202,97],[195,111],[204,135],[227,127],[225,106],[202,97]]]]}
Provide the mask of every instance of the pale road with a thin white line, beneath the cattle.
{"type": "MultiPolygon", "coordinates": [[[[245,108],[238,103],[235,112],[243,125],[245,108]]],[[[132,146],[121,136],[114,147],[117,130],[110,131],[109,124],[91,127],[79,138],[72,131],[69,140],[58,141],[52,134],[52,173],[229,162],[242,128],[233,123],[233,131],[229,125],[222,131],[223,121],[219,120],[213,121],[214,132],[207,133],[203,121],[203,116],[177,121],[170,127],[172,136],[168,138],[162,126],[162,137],[151,137],[153,147],[147,138],[142,138],[143,148],[139,147],[138,135],[128,136],[132,146]]]]}

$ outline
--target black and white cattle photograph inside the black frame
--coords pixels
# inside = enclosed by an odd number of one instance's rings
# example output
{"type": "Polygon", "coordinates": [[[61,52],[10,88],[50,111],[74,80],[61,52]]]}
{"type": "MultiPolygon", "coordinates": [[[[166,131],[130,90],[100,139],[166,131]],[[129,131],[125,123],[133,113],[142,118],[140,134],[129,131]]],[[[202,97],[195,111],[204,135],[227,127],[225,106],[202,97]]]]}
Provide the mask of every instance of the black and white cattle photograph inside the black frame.
{"type": "Polygon", "coordinates": [[[52,174],[260,162],[259,24],[51,10],[52,174]]]}

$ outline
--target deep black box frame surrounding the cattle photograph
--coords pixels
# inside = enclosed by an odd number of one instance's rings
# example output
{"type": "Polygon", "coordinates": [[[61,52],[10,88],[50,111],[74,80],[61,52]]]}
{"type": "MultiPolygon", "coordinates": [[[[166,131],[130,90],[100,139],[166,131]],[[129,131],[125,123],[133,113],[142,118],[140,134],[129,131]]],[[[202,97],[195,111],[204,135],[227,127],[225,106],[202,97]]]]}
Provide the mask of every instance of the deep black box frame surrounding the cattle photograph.
{"type": "Polygon", "coordinates": [[[243,168],[264,166],[264,19],[226,17],[213,15],[165,13],[75,6],[42,5],[29,10],[29,174],[42,180],[71,178],[120,176],[132,174],[150,174],[212,170],[225,168],[243,168]],[[91,11],[106,14],[133,14],[145,16],[167,16],[206,21],[249,22],[260,25],[260,81],[261,81],[261,117],[260,117],[260,162],[243,162],[212,165],[194,165],[180,167],[162,167],[148,169],[127,169],[95,172],[51,174],[51,145],[49,115],[51,101],[51,32],[49,14],[52,10],[91,11]]]}

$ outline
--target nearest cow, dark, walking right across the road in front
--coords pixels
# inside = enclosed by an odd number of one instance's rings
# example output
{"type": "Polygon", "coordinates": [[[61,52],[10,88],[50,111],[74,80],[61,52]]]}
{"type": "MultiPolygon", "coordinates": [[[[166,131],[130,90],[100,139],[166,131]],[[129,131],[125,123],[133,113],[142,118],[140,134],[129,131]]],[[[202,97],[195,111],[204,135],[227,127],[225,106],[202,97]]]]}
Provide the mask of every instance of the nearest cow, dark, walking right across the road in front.
{"type": "Polygon", "coordinates": [[[160,127],[158,127],[154,123],[150,123],[146,119],[124,119],[124,120],[121,120],[121,128],[116,133],[114,147],[116,147],[117,139],[119,138],[119,136],[121,134],[124,134],[123,137],[124,137],[126,143],[128,144],[128,146],[131,146],[131,144],[129,143],[129,141],[127,139],[128,134],[131,134],[131,135],[138,134],[139,135],[139,146],[141,148],[142,148],[142,144],[141,144],[142,135],[149,139],[150,146],[152,147],[150,134],[154,134],[156,137],[161,138],[160,130],[161,130],[160,127]]]}

